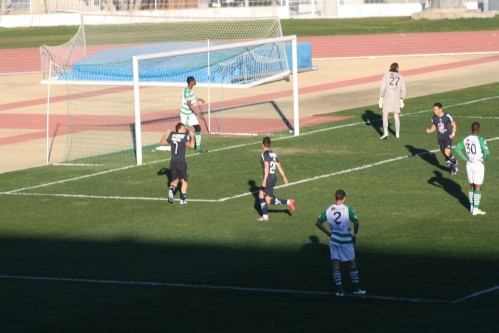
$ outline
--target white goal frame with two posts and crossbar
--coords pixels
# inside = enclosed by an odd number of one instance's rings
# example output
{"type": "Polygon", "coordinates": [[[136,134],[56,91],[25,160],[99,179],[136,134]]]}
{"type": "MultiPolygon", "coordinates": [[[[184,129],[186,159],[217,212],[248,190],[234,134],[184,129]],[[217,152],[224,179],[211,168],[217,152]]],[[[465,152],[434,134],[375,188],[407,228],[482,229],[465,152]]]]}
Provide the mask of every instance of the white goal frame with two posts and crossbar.
{"type": "MultiPolygon", "coordinates": [[[[275,44],[275,43],[289,43],[291,42],[291,57],[292,57],[292,68],[291,71],[287,71],[287,73],[279,73],[274,76],[269,76],[263,80],[257,81],[253,84],[241,85],[239,88],[251,88],[254,85],[260,85],[263,83],[275,81],[282,79],[286,74],[291,74],[292,76],[292,85],[293,85],[293,131],[294,135],[298,136],[300,134],[300,117],[299,117],[299,99],[298,99],[298,60],[297,60],[297,42],[296,36],[286,36],[286,37],[278,37],[278,38],[270,38],[265,40],[256,40],[250,42],[242,42],[242,43],[232,43],[226,45],[218,45],[218,46],[209,46],[203,48],[189,49],[189,50],[181,50],[181,51],[173,51],[173,52],[164,52],[164,53],[154,53],[154,54],[146,54],[146,55],[137,55],[133,56],[132,64],[133,64],[133,90],[134,90],[134,110],[135,110],[135,135],[136,135],[136,161],[137,165],[141,165],[143,163],[143,154],[142,154],[142,119],[141,119],[141,105],[140,105],[140,87],[141,86],[155,86],[158,85],[157,82],[141,82],[140,81],[140,62],[151,59],[159,59],[159,58],[168,58],[168,57],[176,57],[176,56],[187,56],[193,54],[207,53],[208,58],[210,53],[216,51],[230,50],[236,48],[250,48],[260,45],[266,44],[275,44]]],[[[209,69],[208,69],[209,71],[209,69]]],[[[163,85],[163,84],[161,84],[163,85]]],[[[177,84],[174,84],[177,85],[177,84]]],[[[222,84],[223,85],[223,84],[222,84]]],[[[217,83],[207,82],[204,84],[199,84],[199,86],[206,86],[208,91],[211,87],[220,86],[217,83]]],[[[234,87],[234,85],[228,85],[227,87],[234,87]]],[[[237,86],[236,86],[237,87],[237,86]]],[[[232,89],[237,89],[236,87],[232,89]]],[[[211,132],[211,104],[208,102],[208,131],[211,132]]]]}

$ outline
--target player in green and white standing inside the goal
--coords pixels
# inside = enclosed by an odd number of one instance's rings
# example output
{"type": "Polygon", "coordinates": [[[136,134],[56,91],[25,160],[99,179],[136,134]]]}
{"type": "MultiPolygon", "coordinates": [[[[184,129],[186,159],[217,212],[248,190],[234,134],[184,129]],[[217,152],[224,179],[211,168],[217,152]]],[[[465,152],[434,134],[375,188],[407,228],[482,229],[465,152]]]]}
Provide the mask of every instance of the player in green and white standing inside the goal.
{"type": "MultiPolygon", "coordinates": [[[[189,126],[194,127],[195,137],[196,137],[196,153],[202,153],[201,150],[201,126],[197,116],[199,115],[203,121],[204,116],[201,110],[201,104],[204,104],[204,99],[197,98],[194,95],[194,86],[196,85],[196,79],[194,76],[189,76],[187,78],[187,87],[182,91],[182,106],[180,107],[180,122],[185,125],[186,128],[189,126]],[[199,109],[198,112],[195,110],[195,106],[199,109]]],[[[206,122],[205,122],[206,125],[206,122]]]]}

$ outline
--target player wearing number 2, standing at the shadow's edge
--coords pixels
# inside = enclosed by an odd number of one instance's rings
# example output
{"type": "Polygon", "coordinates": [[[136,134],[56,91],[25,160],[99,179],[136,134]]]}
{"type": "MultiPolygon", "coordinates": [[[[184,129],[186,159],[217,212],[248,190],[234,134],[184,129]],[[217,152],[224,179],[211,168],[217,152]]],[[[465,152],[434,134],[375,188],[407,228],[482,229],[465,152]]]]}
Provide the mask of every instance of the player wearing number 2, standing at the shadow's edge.
{"type": "Polygon", "coordinates": [[[335,194],[336,203],[324,209],[317,218],[315,225],[324,234],[330,237],[329,251],[333,264],[333,279],[336,285],[336,296],[343,296],[341,283],[341,262],[347,262],[350,269],[350,278],[355,295],[363,295],[365,290],[359,288],[359,271],[355,263],[354,244],[359,232],[359,220],[352,207],[345,205],[346,194],[343,190],[337,190],[335,194]],[[329,230],[323,225],[328,223],[329,230]],[[350,223],[353,223],[353,235],[350,231],[350,223]],[[331,231],[330,231],[331,230],[331,231]]]}

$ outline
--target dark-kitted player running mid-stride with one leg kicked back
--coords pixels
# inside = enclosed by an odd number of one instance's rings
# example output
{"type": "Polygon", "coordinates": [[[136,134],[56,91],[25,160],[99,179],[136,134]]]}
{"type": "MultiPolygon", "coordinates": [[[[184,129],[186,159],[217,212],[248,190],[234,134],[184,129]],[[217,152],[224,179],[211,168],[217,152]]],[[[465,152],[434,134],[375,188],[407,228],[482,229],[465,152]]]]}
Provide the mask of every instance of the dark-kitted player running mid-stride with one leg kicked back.
{"type": "Polygon", "coordinates": [[[268,136],[263,138],[262,146],[263,153],[260,161],[262,163],[263,169],[263,181],[260,192],[258,193],[258,199],[260,200],[260,207],[262,209],[262,216],[258,220],[268,221],[268,205],[288,205],[291,209],[291,212],[294,212],[295,201],[293,199],[278,199],[274,197],[274,187],[277,184],[277,175],[275,173],[276,169],[279,170],[284,184],[288,183],[288,179],[284,174],[281,163],[279,163],[277,154],[270,150],[270,138],[268,136]]]}

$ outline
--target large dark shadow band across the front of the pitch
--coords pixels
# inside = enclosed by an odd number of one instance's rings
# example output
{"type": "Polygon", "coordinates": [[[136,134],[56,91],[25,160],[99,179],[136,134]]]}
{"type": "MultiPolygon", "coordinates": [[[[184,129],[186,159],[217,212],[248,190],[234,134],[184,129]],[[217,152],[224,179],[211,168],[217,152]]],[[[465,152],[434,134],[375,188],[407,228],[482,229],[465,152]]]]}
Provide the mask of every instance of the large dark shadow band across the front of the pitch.
{"type": "MultiPolygon", "coordinates": [[[[285,250],[1,237],[0,324],[5,332],[306,332],[329,330],[318,309],[339,308],[338,331],[428,332],[442,317],[460,332],[496,328],[493,297],[457,307],[301,292],[333,290],[323,239],[285,250]]],[[[499,273],[491,260],[357,251],[363,288],[392,297],[452,300],[486,289],[499,273]]]]}

